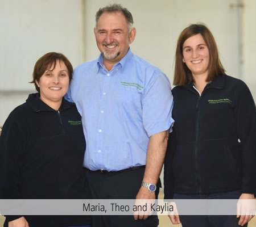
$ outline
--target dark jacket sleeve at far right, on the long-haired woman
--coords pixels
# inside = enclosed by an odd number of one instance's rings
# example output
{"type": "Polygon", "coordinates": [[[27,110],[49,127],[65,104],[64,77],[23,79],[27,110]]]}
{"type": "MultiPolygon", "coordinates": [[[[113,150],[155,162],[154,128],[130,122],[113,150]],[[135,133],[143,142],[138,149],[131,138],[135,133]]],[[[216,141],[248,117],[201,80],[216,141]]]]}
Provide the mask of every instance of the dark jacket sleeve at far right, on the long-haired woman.
{"type": "Polygon", "coordinates": [[[235,112],[242,150],[242,193],[256,194],[256,108],[245,83],[242,85],[235,112]]]}

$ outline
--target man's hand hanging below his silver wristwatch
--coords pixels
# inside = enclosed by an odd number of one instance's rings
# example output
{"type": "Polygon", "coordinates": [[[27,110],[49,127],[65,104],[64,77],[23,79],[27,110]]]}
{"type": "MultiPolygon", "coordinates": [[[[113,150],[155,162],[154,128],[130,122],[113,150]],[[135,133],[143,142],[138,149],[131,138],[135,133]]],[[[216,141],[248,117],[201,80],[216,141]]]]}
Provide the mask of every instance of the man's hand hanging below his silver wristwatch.
{"type": "Polygon", "coordinates": [[[152,212],[150,212],[150,203],[152,203],[152,201],[155,200],[155,192],[150,192],[150,191],[148,191],[148,189],[146,187],[142,186],[140,188],[137,196],[136,196],[135,205],[137,205],[137,206],[138,205],[144,205],[146,200],[148,200],[148,199],[152,199],[152,200],[148,201],[148,203],[147,203],[147,211],[145,211],[145,212],[144,211],[135,212],[134,216],[133,216],[135,220],[137,220],[138,218],[139,219],[147,219],[148,216],[150,216],[151,213],[152,213],[152,212]],[[142,200],[143,204],[140,204],[139,200],[141,200],[141,199],[143,199],[142,200]]]}

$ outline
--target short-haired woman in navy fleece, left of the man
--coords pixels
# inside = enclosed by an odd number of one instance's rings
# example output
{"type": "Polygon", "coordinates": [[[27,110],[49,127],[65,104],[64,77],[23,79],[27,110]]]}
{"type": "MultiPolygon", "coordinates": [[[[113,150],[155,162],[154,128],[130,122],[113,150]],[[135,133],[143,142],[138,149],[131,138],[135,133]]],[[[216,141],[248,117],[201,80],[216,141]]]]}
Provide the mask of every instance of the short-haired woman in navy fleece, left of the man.
{"type": "MultiPolygon", "coordinates": [[[[0,199],[88,199],[85,138],[74,103],[63,98],[73,68],[60,53],[35,64],[38,93],[16,107],[0,136],[0,199]]],[[[5,226],[89,226],[88,216],[6,216],[5,226]]]]}

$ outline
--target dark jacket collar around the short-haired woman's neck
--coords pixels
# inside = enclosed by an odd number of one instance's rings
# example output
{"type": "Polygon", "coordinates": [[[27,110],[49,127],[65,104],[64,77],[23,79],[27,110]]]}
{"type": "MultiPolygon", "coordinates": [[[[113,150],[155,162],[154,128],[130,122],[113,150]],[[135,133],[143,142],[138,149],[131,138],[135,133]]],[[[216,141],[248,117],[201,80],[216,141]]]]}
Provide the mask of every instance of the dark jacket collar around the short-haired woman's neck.
{"type": "MultiPolygon", "coordinates": [[[[28,106],[30,106],[32,108],[32,110],[34,110],[35,112],[39,112],[39,111],[56,111],[53,110],[53,108],[49,107],[46,103],[44,103],[41,99],[40,99],[40,94],[39,93],[34,93],[34,94],[30,94],[28,95],[28,98],[26,100],[26,103],[28,104],[28,106]]],[[[68,102],[67,100],[65,100],[64,98],[62,99],[62,103],[60,106],[60,111],[66,110],[71,108],[72,106],[74,106],[75,103],[71,103],[68,102]]]]}

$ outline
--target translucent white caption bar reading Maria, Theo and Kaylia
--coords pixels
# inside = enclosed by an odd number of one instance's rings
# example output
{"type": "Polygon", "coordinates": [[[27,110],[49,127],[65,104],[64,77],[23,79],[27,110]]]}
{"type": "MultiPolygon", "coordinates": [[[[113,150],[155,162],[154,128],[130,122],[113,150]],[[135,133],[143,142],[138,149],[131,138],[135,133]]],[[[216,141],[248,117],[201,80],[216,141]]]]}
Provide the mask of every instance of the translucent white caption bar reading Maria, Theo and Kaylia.
{"type": "Polygon", "coordinates": [[[255,215],[256,200],[0,199],[1,215],[255,215]]]}

